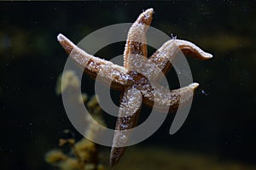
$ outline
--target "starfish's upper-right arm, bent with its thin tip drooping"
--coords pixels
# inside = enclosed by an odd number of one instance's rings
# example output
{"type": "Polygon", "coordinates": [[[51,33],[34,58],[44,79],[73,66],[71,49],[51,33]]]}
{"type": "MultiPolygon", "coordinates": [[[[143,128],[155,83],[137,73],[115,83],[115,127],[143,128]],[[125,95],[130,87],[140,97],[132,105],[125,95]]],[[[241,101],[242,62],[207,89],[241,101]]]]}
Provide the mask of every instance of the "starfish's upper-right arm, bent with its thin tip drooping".
{"type": "MultiPolygon", "coordinates": [[[[181,50],[183,54],[189,55],[196,59],[211,59],[212,54],[208,54],[197,47],[194,43],[185,40],[172,39],[165,42],[152,56],[149,57],[160,68],[165,75],[172,67],[172,61],[175,59],[178,51],[181,50]]],[[[158,71],[152,72],[152,78],[159,76],[158,71]]]]}

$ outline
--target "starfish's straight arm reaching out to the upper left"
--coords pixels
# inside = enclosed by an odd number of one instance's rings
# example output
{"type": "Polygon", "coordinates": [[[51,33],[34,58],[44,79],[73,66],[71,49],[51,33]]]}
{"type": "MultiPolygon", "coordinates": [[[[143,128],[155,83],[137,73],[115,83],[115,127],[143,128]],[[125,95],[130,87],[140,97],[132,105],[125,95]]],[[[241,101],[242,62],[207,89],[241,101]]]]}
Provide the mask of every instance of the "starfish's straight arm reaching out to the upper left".
{"type": "Polygon", "coordinates": [[[67,54],[79,63],[90,77],[96,78],[99,74],[102,82],[112,82],[111,87],[115,89],[122,89],[129,82],[130,78],[125,67],[87,54],[62,34],[59,34],[57,39],[67,54]]]}

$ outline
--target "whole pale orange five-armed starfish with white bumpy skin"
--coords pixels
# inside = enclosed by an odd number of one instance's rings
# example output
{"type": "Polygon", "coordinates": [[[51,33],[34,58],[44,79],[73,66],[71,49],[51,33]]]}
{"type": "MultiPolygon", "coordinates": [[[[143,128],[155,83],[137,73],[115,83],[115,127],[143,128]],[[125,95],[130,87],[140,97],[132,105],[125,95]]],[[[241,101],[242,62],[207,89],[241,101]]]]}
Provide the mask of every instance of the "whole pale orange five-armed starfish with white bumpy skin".
{"type": "Polygon", "coordinates": [[[170,90],[162,87],[157,81],[160,73],[166,73],[172,67],[172,60],[177,54],[176,47],[183,54],[197,59],[211,59],[208,54],[195,46],[194,43],[185,40],[171,39],[165,42],[154,54],[147,57],[146,32],[151,24],[154,10],[148,8],[139,15],[131,26],[124,52],[124,66],[115,65],[110,61],[100,59],[73,44],[67,37],[59,34],[57,40],[76,62],[84,68],[84,73],[92,78],[101,77],[102,83],[112,82],[111,88],[121,90],[119,116],[117,118],[113,136],[113,147],[110,153],[111,166],[117,164],[125,153],[123,147],[129,139],[130,132],[127,129],[136,127],[141,103],[157,110],[168,109],[170,112],[177,111],[179,105],[183,106],[193,98],[198,83],[191,83],[186,87],[170,90]],[[149,62],[142,62],[145,60],[149,62]],[[170,62],[171,61],[171,62],[170,62]],[[138,67],[143,65],[143,74],[138,67]],[[149,64],[148,64],[149,63],[149,64]],[[152,71],[152,65],[158,69],[152,71]],[[154,82],[154,83],[151,83],[154,82]]]}

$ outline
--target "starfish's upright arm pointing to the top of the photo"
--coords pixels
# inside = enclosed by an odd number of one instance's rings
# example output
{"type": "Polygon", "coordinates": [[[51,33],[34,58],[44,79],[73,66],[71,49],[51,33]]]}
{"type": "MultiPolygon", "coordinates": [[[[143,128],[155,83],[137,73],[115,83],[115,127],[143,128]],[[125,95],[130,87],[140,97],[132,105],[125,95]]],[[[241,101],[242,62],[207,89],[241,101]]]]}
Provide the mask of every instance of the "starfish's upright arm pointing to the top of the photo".
{"type": "Polygon", "coordinates": [[[148,8],[140,14],[128,32],[124,52],[124,66],[128,70],[133,70],[132,67],[135,66],[132,58],[142,56],[147,58],[146,32],[151,24],[153,11],[153,8],[148,8]]]}

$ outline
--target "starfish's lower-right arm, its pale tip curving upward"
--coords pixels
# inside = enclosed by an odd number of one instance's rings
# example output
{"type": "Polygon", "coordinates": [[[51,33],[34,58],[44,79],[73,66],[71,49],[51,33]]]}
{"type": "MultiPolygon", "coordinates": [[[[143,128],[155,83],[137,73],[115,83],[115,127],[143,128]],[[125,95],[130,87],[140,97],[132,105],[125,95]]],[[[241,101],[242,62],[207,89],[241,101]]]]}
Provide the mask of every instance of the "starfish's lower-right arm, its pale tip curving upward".
{"type": "MultiPolygon", "coordinates": [[[[184,88],[178,88],[175,90],[166,89],[160,85],[153,86],[154,90],[152,94],[143,94],[146,96],[143,99],[143,104],[157,111],[166,111],[169,109],[170,112],[177,111],[178,106],[185,106],[190,99],[193,98],[195,89],[199,86],[198,83],[194,82],[184,88]]],[[[145,91],[144,91],[145,92],[145,91]]]]}

